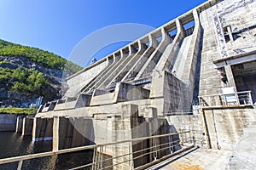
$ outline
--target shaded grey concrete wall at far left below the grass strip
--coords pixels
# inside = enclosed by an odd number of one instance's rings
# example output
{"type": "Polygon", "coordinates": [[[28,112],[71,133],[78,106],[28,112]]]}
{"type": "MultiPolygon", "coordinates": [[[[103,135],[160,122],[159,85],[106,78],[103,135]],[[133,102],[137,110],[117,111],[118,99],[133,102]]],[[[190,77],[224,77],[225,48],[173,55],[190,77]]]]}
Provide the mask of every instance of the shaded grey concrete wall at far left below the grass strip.
{"type": "Polygon", "coordinates": [[[17,115],[0,114],[0,132],[15,132],[17,115]]]}

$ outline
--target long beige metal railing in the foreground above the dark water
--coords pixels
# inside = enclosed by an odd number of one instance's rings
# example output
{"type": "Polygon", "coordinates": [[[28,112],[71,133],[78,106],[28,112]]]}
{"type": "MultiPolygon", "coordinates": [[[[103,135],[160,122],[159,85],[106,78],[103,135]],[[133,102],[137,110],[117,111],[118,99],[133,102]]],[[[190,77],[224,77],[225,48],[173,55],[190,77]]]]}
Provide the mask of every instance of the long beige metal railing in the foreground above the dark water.
{"type": "Polygon", "coordinates": [[[76,147],[65,150],[55,150],[38,154],[15,156],[0,159],[1,164],[18,162],[18,168],[21,169],[23,161],[42,158],[46,156],[61,155],[80,150],[94,150],[93,161],[80,167],[70,167],[70,169],[143,169],[149,167],[152,163],[171,157],[183,150],[189,150],[194,147],[195,138],[190,131],[180,133],[167,133],[143,137],[137,139],[123,140],[108,144],[94,144],[82,147],[76,147]],[[143,147],[142,147],[143,145],[143,147]],[[103,156],[106,149],[112,148],[112,156],[103,156]]]}

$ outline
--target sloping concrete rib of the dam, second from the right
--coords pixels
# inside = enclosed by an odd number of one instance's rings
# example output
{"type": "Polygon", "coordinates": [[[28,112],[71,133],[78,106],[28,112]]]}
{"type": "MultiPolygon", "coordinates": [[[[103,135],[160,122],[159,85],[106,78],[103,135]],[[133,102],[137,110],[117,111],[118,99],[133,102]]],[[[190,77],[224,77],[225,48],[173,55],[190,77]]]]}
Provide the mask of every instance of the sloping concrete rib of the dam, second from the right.
{"type": "Polygon", "coordinates": [[[175,20],[175,23],[177,27],[177,34],[174,37],[174,40],[172,41],[172,43],[166,47],[166,50],[162,55],[160,62],[155,67],[155,70],[157,71],[163,71],[163,70],[169,71],[173,63],[173,59],[175,58],[175,56],[177,56],[180,43],[183,41],[183,37],[185,36],[184,29],[180,21],[175,20]]]}

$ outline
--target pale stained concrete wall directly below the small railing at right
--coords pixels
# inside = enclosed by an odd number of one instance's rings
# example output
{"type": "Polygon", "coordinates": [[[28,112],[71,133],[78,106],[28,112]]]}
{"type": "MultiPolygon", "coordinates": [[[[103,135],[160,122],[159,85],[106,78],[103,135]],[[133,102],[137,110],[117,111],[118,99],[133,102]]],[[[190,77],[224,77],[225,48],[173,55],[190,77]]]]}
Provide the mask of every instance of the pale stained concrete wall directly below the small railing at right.
{"type": "Polygon", "coordinates": [[[212,149],[232,150],[245,127],[256,122],[256,109],[217,108],[203,111],[208,144],[212,149]]]}

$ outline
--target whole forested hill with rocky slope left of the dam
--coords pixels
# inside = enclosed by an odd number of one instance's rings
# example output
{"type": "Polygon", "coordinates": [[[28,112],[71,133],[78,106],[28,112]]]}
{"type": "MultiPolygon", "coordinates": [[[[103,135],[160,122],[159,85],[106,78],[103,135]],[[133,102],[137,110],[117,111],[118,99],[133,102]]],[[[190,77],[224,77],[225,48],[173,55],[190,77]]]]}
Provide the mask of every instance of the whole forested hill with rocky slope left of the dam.
{"type": "Polygon", "coordinates": [[[59,99],[63,77],[81,69],[59,55],[0,39],[0,107],[27,107],[40,96],[59,99]]]}

